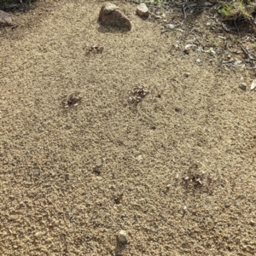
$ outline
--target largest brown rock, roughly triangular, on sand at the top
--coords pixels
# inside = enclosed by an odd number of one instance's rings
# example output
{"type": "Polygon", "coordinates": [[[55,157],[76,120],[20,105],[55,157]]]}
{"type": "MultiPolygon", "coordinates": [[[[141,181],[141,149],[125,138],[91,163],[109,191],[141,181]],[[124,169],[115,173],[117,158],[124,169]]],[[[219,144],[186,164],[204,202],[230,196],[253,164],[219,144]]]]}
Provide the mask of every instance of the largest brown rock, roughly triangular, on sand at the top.
{"type": "Polygon", "coordinates": [[[102,6],[98,22],[102,26],[116,26],[131,30],[131,21],[123,15],[116,6],[112,3],[107,3],[102,6]]]}

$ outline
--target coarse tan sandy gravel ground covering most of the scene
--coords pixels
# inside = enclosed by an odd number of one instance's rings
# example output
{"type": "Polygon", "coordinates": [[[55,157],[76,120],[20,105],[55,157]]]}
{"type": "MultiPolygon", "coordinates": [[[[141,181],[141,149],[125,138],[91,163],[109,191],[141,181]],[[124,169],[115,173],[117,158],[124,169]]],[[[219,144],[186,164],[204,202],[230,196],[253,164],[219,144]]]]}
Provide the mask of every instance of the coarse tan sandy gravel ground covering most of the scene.
{"type": "Polygon", "coordinates": [[[197,64],[130,3],[131,32],[103,28],[102,3],[1,32],[0,255],[255,255],[252,74],[197,64]]]}

